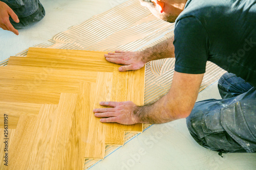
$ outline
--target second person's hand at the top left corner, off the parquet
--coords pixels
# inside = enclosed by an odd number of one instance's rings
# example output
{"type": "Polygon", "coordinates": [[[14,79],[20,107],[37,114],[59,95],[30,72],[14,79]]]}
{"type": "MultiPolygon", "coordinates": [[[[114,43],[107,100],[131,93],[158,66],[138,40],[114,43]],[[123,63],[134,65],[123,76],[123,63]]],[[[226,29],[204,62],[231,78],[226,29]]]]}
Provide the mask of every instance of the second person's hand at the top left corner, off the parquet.
{"type": "Polygon", "coordinates": [[[18,16],[13,12],[13,10],[7,4],[0,1],[0,28],[18,35],[18,30],[12,26],[9,16],[11,16],[15,22],[19,22],[18,16]]]}

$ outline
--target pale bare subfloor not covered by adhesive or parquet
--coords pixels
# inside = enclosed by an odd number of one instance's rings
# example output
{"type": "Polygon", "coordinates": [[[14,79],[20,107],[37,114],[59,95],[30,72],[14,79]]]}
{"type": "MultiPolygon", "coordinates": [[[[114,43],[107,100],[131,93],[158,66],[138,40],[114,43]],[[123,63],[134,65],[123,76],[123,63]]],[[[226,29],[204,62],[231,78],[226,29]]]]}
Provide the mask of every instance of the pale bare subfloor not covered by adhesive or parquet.
{"type": "MultiPolygon", "coordinates": [[[[0,61],[46,42],[93,15],[126,0],[41,0],[46,16],[19,36],[0,29],[0,61]]],[[[220,99],[217,82],[200,92],[198,101],[220,99]]],[[[185,119],[153,125],[91,169],[256,169],[256,154],[224,154],[200,147],[190,136],[185,119]]]]}

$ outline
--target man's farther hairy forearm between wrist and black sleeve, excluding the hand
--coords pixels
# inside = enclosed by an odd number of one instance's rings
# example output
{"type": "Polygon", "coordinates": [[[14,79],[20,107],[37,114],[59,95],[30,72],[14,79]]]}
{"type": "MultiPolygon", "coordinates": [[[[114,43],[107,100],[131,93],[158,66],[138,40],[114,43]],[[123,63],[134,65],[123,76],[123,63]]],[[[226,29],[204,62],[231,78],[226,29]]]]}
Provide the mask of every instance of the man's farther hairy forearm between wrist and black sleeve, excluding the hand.
{"type": "Polygon", "coordinates": [[[145,63],[152,60],[175,57],[173,41],[174,37],[170,37],[169,39],[142,51],[141,55],[145,63]]]}

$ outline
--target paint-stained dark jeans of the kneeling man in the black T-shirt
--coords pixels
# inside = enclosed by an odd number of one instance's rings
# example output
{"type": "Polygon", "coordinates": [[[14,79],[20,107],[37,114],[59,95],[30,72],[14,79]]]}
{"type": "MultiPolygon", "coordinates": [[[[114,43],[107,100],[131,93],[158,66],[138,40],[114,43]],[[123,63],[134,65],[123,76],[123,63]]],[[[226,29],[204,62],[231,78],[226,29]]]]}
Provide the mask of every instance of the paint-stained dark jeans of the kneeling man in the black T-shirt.
{"type": "Polygon", "coordinates": [[[256,152],[256,88],[229,73],[218,88],[222,100],[197,102],[186,118],[191,136],[220,155],[256,152]]]}

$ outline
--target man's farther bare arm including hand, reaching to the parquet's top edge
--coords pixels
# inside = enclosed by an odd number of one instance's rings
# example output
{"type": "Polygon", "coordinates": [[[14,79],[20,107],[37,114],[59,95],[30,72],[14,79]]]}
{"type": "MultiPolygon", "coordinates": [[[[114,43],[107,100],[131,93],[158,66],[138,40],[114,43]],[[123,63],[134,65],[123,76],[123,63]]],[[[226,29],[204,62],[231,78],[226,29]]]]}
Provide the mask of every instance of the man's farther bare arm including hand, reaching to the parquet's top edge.
{"type": "Polygon", "coordinates": [[[175,57],[173,41],[174,37],[171,37],[142,52],[116,51],[105,55],[105,58],[109,62],[123,64],[124,66],[121,66],[119,71],[136,70],[149,61],[175,57]]]}

